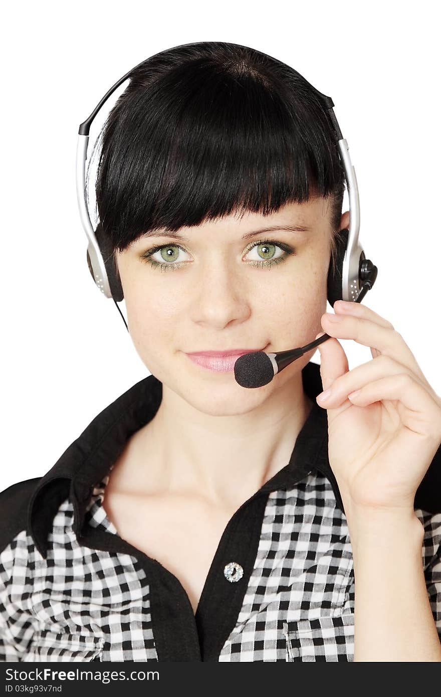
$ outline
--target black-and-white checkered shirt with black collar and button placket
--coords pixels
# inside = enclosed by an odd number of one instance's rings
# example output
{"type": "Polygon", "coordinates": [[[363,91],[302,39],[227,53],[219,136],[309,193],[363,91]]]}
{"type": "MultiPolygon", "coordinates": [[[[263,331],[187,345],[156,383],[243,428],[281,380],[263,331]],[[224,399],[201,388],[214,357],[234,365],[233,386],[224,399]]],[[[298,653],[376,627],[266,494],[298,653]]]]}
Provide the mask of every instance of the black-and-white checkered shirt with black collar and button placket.
{"type": "MultiPolygon", "coordinates": [[[[353,661],[353,557],[315,401],[320,367],[309,362],[302,379],[314,406],[291,459],[230,519],[196,615],[176,576],[121,539],[102,506],[111,466],[160,405],[154,376],[45,476],[1,492],[0,660],[353,661]]],[[[440,491],[441,446],[415,497],[441,636],[440,491]]]]}

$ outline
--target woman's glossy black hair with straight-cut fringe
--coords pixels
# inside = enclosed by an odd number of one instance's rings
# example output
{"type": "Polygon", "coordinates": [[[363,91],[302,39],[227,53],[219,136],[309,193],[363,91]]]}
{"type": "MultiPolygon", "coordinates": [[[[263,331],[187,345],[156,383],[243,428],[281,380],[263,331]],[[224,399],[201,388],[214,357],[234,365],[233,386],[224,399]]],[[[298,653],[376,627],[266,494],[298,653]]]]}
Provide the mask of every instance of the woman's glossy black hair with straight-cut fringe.
{"type": "Polygon", "coordinates": [[[285,63],[220,41],[167,49],[132,70],[100,137],[98,227],[113,254],[148,230],[321,196],[334,264],[345,187],[336,135],[285,63]]]}

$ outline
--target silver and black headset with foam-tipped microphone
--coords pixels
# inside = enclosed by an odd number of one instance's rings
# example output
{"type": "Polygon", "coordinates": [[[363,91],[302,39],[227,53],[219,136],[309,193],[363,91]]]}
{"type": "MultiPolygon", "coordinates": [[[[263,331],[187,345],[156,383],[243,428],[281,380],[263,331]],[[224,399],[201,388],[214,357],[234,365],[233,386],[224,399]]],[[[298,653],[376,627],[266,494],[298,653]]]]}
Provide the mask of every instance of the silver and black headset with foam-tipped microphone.
{"type": "MultiPolygon", "coordinates": [[[[201,42],[202,43],[202,42],[201,42]]],[[[180,48],[177,46],[175,48],[180,48]]],[[[77,141],[77,201],[79,206],[79,215],[82,221],[82,226],[88,239],[87,247],[87,263],[91,276],[98,286],[98,289],[105,295],[106,298],[114,300],[118,311],[123,317],[125,327],[128,331],[127,323],[124,319],[121,309],[118,307],[118,302],[124,298],[121,280],[118,277],[113,261],[113,250],[105,235],[100,229],[100,225],[96,231],[93,231],[91,219],[88,214],[88,205],[86,198],[86,159],[87,147],[89,139],[89,130],[93,119],[100,111],[102,105],[112,93],[123,83],[129,79],[134,70],[145,63],[141,61],[137,66],[125,73],[104,97],[98,102],[98,105],[93,109],[91,115],[79,125],[78,141],[77,141]]],[[[341,238],[336,240],[336,263],[334,268],[330,264],[327,275],[327,300],[333,307],[336,300],[349,300],[353,302],[361,302],[367,291],[371,290],[376,281],[378,268],[373,265],[370,259],[366,259],[364,250],[359,244],[359,195],[357,187],[357,178],[355,169],[350,161],[348,141],[343,138],[339,123],[334,114],[334,102],[330,97],[319,92],[313,85],[307,82],[299,72],[293,70],[297,77],[300,77],[306,84],[309,85],[312,91],[318,97],[320,105],[322,105],[325,114],[332,126],[336,137],[336,144],[339,150],[339,157],[343,164],[343,169],[348,187],[350,219],[348,229],[340,231],[341,238]]],[[[263,373],[265,373],[266,382],[274,377],[277,372],[280,372],[284,367],[289,365],[296,358],[300,358],[306,351],[318,346],[322,342],[330,339],[327,334],[322,335],[314,342],[289,351],[281,351],[278,353],[246,353],[240,356],[235,362],[235,379],[243,387],[260,387],[262,384],[263,373]],[[260,359],[259,359],[260,355],[260,359]],[[264,359],[264,360],[262,360],[264,359]],[[259,362],[260,360],[260,362],[259,362]],[[270,363],[268,363],[268,360],[270,363]],[[265,369],[263,366],[265,365],[265,369]],[[269,367],[271,366],[271,368],[269,367]],[[260,370],[260,374],[259,374],[260,370]],[[268,379],[267,379],[268,378],[268,379]]]]}

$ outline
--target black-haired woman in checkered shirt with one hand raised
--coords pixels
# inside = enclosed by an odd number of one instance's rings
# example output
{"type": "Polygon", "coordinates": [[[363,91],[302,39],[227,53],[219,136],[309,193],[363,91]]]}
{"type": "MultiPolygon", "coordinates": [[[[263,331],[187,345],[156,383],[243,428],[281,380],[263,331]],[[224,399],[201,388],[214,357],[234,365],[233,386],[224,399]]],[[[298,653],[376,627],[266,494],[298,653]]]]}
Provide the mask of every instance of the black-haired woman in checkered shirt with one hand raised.
{"type": "Polygon", "coordinates": [[[387,319],[324,314],[343,187],[283,63],[213,42],[134,69],[96,236],[151,375],[3,491],[3,660],[441,661],[441,399],[387,319]],[[235,382],[323,331],[320,366],[235,382]]]}

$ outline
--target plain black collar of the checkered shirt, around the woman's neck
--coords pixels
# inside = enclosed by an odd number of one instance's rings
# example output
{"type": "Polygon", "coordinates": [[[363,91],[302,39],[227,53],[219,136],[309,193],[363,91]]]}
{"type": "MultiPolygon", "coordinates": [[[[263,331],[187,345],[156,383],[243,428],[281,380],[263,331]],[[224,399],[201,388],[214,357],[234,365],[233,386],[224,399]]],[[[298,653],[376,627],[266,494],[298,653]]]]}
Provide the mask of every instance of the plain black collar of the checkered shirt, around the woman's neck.
{"type": "MultiPolygon", "coordinates": [[[[259,491],[290,489],[299,482],[302,475],[306,477],[311,471],[317,471],[325,475],[332,484],[336,504],[344,512],[339,487],[327,454],[327,412],[316,402],[316,396],[323,390],[320,365],[311,361],[307,363],[302,369],[302,381],[304,391],[314,402],[313,407],[297,436],[290,461],[265,482],[259,491]]],[[[69,496],[74,509],[73,530],[79,535],[93,486],[107,475],[110,465],[123,452],[130,436],[153,418],[161,400],[162,383],[155,376],[149,375],[139,381],[101,411],[65,450],[52,469],[41,477],[29,500],[28,531],[42,556],[46,556],[47,535],[52,529],[52,521],[61,502],[69,496]]],[[[435,479],[435,468],[431,466],[432,478],[429,477],[430,482],[427,483],[430,484],[429,489],[438,484],[439,492],[441,446],[437,460],[435,479]]],[[[426,475],[425,480],[427,478],[426,475]]],[[[419,505],[424,507],[421,502],[419,505]]],[[[432,505],[435,505],[435,498],[432,505]]]]}

